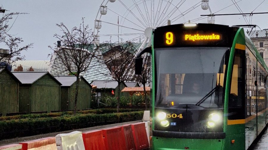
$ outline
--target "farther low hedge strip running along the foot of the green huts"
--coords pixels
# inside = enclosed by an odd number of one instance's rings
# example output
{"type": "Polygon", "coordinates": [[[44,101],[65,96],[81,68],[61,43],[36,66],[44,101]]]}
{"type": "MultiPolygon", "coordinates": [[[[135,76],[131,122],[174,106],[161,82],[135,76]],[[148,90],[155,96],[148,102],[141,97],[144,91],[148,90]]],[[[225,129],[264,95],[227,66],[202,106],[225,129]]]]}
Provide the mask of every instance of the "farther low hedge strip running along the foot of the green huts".
{"type": "MultiPolygon", "coordinates": [[[[141,111],[142,109],[119,109],[119,112],[133,112],[141,111]]],[[[46,118],[46,117],[61,117],[66,115],[72,115],[73,111],[66,112],[54,112],[46,114],[26,114],[26,115],[15,115],[15,116],[3,116],[0,117],[0,121],[3,120],[13,120],[13,119],[27,119],[27,118],[46,118]]],[[[116,113],[116,108],[102,108],[102,109],[91,109],[85,111],[77,111],[77,114],[111,114],[116,113]]]]}

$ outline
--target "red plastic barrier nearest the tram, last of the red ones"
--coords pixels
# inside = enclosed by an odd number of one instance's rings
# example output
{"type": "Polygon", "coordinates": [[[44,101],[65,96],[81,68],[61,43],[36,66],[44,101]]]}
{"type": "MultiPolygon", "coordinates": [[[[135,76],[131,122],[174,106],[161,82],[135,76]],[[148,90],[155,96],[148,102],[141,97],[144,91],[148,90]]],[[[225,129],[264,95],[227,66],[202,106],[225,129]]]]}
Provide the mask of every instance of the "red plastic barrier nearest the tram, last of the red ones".
{"type": "Polygon", "coordinates": [[[131,124],[136,150],[149,149],[149,141],[145,129],[145,123],[131,124]]]}

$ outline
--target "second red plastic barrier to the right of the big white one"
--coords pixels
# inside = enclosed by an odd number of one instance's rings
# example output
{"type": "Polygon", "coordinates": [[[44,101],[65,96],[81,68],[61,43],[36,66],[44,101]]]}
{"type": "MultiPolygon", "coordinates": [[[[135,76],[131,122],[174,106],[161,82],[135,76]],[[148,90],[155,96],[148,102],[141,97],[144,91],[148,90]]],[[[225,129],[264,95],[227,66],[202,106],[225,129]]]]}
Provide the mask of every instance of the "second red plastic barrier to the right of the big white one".
{"type": "Polygon", "coordinates": [[[102,130],[106,150],[126,150],[125,137],[121,127],[112,127],[102,130]]]}

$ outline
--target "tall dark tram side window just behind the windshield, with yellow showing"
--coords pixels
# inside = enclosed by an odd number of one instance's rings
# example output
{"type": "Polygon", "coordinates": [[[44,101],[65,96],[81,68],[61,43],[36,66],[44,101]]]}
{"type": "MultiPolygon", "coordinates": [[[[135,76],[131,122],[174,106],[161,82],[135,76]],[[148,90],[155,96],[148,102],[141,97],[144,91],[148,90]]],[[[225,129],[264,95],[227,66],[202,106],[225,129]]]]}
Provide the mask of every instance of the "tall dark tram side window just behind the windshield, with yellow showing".
{"type": "Polygon", "coordinates": [[[244,119],[245,106],[245,51],[235,51],[228,101],[228,119],[244,119]]]}

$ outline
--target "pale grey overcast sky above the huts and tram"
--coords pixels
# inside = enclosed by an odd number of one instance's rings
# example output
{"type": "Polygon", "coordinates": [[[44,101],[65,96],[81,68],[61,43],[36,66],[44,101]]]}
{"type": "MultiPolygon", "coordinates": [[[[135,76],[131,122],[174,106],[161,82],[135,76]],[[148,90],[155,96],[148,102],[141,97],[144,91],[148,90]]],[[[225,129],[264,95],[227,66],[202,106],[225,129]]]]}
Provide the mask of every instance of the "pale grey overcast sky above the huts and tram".
{"type": "MultiPolygon", "coordinates": [[[[99,6],[102,4],[103,0],[0,0],[1,5],[4,9],[7,9],[5,13],[9,12],[26,12],[28,14],[19,15],[18,18],[15,20],[15,23],[10,30],[10,34],[15,36],[19,36],[23,38],[23,44],[34,43],[33,48],[29,49],[27,52],[22,52],[23,55],[26,56],[26,60],[49,60],[47,55],[52,52],[48,48],[49,45],[54,46],[54,43],[57,41],[56,38],[53,37],[55,33],[61,34],[60,29],[56,26],[56,23],[63,22],[68,28],[72,28],[74,26],[79,26],[81,23],[81,18],[85,17],[85,23],[89,24],[92,29],[94,29],[94,20],[99,19],[99,6]]],[[[106,3],[107,0],[105,0],[106,3]]],[[[144,31],[143,26],[140,22],[144,22],[142,16],[136,9],[133,2],[137,2],[138,7],[141,9],[140,11],[144,12],[144,3],[142,0],[121,0],[126,7],[131,9],[131,12],[138,17],[140,21],[135,19],[135,16],[129,13],[129,11],[119,2],[116,0],[114,3],[108,2],[106,4],[108,9],[107,15],[102,15],[102,21],[117,24],[118,16],[119,16],[119,24],[129,27],[129,28],[120,28],[120,33],[143,33],[144,31]],[[134,6],[134,7],[133,7],[134,6]],[[126,19],[122,19],[124,16],[126,19]],[[131,22],[130,22],[131,21],[131,22]],[[133,28],[133,29],[130,29],[133,28]],[[138,29],[138,30],[134,30],[138,29]],[[141,31],[139,31],[141,30],[141,31]]],[[[146,6],[148,7],[149,11],[151,11],[151,2],[148,0],[146,1],[146,6]]],[[[153,1],[153,0],[152,0],[153,1]]],[[[158,6],[158,0],[155,1],[155,12],[156,7],[158,6]]],[[[186,0],[177,11],[172,13],[171,19],[177,16],[180,16],[180,13],[187,11],[189,8],[197,4],[198,0],[186,0]]],[[[243,13],[250,13],[252,12],[267,12],[268,0],[210,0],[209,6],[211,7],[212,13],[215,13],[229,5],[233,4],[233,2],[237,2],[239,8],[242,10],[243,13]],[[263,2],[263,3],[262,3],[263,2]],[[262,4],[261,4],[262,3],[262,4]],[[260,6],[258,6],[261,4],[260,6]]],[[[177,5],[179,0],[163,0],[162,2],[162,10],[166,7],[169,8],[165,10],[166,16],[169,14],[170,11],[174,8],[173,5],[177,5]],[[171,4],[168,1],[172,2],[171,4]],[[174,2],[175,1],[175,2],[174,2]],[[170,4],[170,5],[169,5],[170,4]],[[169,7],[168,7],[169,6],[169,7]],[[172,8],[173,7],[173,8],[172,8]]],[[[181,3],[180,3],[181,4],[181,3]]],[[[200,2],[201,4],[201,2],[200,2]]],[[[223,9],[215,14],[225,14],[225,13],[239,13],[238,8],[235,5],[232,5],[226,9],[223,9]]],[[[153,15],[146,16],[145,12],[144,18],[153,15]]],[[[185,14],[185,13],[183,13],[185,14]]],[[[183,23],[188,20],[193,20],[200,15],[210,14],[209,10],[202,10],[201,6],[198,6],[193,11],[185,14],[183,17],[179,19],[174,19],[172,24],[183,23]]],[[[160,17],[161,18],[161,17],[160,17]]],[[[165,18],[165,17],[163,17],[165,18]]],[[[268,28],[268,14],[256,14],[253,15],[252,18],[249,16],[246,17],[250,24],[256,24],[261,29],[268,28]]],[[[150,19],[152,20],[152,19],[150,19]]],[[[14,21],[14,20],[13,20],[14,21]]],[[[118,33],[118,28],[116,25],[112,25],[109,23],[102,22],[102,28],[99,30],[99,34],[106,35],[106,34],[116,34],[118,33]]],[[[198,20],[196,23],[207,23],[207,18],[198,20]]],[[[144,23],[145,24],[145,23],[144,23]]],[[[148,21],[150,24],[150,21],[148,21]]],[[[215,24],[224,24],[224,25],[244,25],[247,24],[245,19],[242,15],[232,15],[232,16],[216,16],[215,17],[215,24]]],[[[253,29],[255,30],[255,29],[253,29]]],[[[259,30],[259,28],[256,28],[259,30]]],[[[95,31],[96,32],[96,31],[95,31]]],[[[131,35],[131,36],[124,36],[124,39],[130,39],[133,37],[138,37],[140,35],[131,35]]],[[[109,36],[101,36],[100,41],[103,42],[109,39],[109,36]]],[[[117,37],[113,36],[114,41],[117,41],[117,37]]],[[[22,46],[22,45],[21,45],[22,46]]],[[[0,43],[0,48],[7,48],[2,43],[0,43]]]]}

